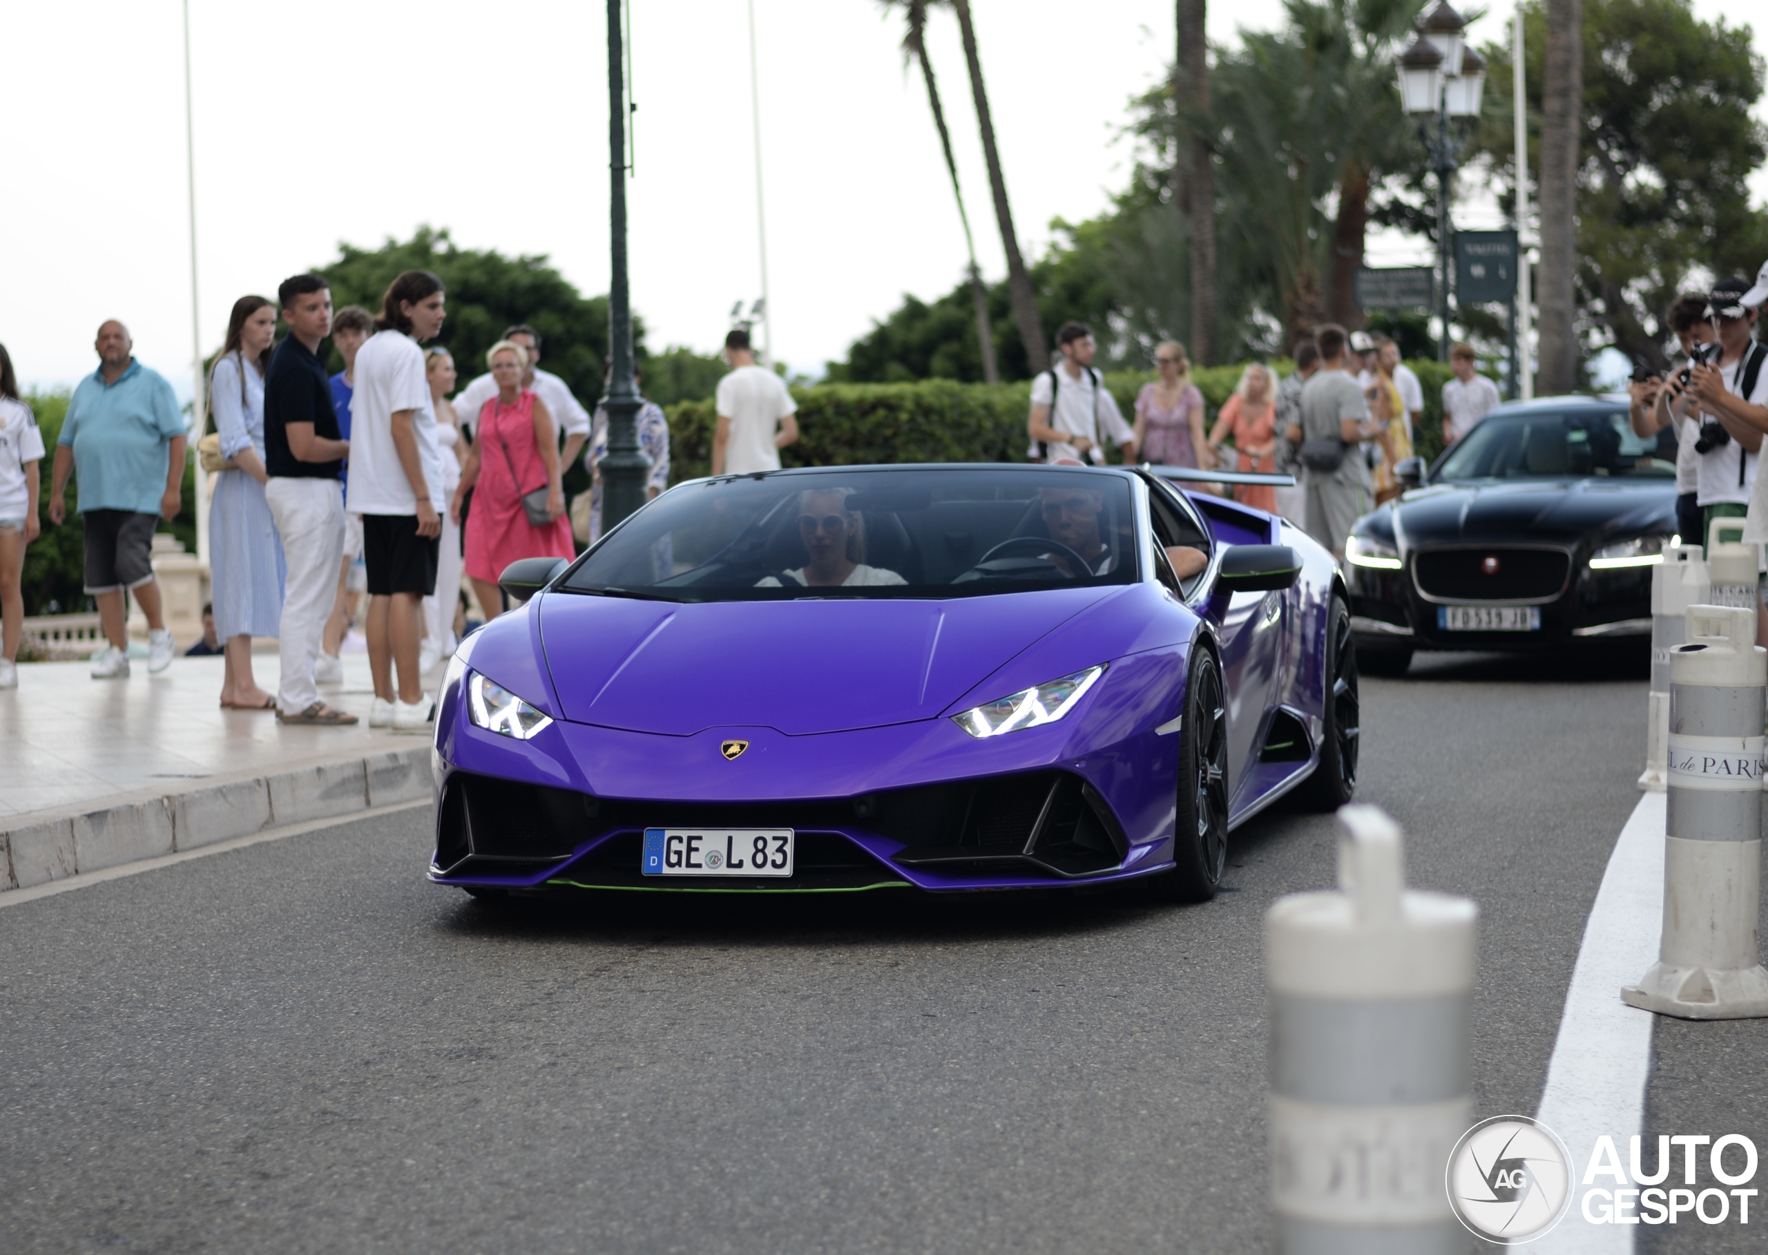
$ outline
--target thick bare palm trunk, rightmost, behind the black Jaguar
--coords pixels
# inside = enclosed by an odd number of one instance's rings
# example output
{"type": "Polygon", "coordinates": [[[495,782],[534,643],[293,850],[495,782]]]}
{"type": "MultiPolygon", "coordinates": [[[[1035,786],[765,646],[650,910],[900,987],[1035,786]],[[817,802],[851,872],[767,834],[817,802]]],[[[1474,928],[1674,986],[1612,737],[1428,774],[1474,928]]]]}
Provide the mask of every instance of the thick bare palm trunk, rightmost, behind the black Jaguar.
{"type": "Polygon", "coordinates": [[[1536,389],[1577,387],[1577,134],[1584,106],[1582,0],[1547,0],[1547,67],[1542,74],[1540,359],[1536,389]]]}

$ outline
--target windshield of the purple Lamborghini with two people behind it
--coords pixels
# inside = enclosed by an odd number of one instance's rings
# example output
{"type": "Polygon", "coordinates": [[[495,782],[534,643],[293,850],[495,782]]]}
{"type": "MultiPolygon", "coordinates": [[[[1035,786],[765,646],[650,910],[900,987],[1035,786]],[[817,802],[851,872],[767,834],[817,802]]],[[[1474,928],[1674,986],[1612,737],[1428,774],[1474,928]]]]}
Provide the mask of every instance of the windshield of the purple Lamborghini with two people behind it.
{"type": "Polygon", "coordinates": [[[965,597],[1137,578],[1130,479],[819,470],[675,488],[560,585],[670,601],[965,597]]]}

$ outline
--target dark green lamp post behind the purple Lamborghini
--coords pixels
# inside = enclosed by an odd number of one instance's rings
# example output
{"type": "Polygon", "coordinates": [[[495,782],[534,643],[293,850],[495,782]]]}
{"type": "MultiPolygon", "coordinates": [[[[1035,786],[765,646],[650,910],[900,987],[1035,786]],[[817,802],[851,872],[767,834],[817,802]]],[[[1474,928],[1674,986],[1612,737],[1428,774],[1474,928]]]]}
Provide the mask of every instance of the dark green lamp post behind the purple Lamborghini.
{"type": "Polygon", "coordinates": [[[613,530],[645,504],[645,472],[651,458],[638,447],[638,410],[644,398],[633,380],[633,309],[626,288],[626,83],[621,4],[608,0],[608,226],[612,274],[608,278],[608,456],[601,460],[601,530],[613,530]]]}

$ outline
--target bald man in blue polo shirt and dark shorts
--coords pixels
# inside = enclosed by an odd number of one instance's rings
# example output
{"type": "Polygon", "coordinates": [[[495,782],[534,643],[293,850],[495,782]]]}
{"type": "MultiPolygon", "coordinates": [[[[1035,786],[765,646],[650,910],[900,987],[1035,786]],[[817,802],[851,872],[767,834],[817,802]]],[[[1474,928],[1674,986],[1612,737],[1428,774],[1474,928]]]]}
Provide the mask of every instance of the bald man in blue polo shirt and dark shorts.
{"type": "Polygon", "coordinates": [[[80,472],[87,592],[99,603],[104,640],[92,679],[129,677],[124,589],[147,615],[147,670],[171,665],[171,633],[154,582],[154,529],[179,513],[184,486],[184,414],[171,385],[134,361],[129,329],[99,327],[99,369],[80,380],[55,447],[50,521],[67,518],[67,474],[80,472]]]}

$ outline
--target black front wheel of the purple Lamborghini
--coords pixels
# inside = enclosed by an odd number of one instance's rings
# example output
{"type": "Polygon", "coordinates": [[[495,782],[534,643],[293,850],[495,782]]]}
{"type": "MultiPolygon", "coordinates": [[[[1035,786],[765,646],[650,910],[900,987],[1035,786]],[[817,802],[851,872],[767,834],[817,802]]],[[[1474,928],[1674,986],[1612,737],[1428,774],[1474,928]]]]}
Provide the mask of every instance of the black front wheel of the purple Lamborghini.
{"type": "Polygon", "coordinates": [[[1179,804],[1172,831],[1172,871],[1163,880],[1174,901],[1208,901],[1227,864],[1227,704],[1215,654],[1199,647],[1185,686],[1179,732],[1179,804]]]}

